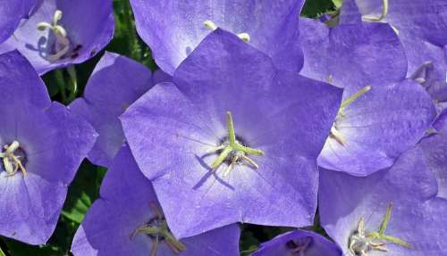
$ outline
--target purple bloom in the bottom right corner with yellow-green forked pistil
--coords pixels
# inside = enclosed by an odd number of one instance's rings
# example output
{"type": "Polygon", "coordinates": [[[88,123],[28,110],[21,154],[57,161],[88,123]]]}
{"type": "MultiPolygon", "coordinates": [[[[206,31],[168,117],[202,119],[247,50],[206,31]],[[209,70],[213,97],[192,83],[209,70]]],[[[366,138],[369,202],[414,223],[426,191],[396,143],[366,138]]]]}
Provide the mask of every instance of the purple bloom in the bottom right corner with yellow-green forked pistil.
{"type": "Polygon", "coordinates": [[[367,178],[322,169],[318,209],[325,231],[351,256],[447,252],[447,202],[419,149],[367,178]]]}

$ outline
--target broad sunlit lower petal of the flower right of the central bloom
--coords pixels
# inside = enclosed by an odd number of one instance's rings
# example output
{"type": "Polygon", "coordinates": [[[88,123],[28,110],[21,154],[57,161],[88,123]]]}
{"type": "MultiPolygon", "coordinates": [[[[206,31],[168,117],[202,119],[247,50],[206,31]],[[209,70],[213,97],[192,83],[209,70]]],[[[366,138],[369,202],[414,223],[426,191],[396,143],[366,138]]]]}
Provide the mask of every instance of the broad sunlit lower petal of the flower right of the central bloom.
{"type": "Polygon", "coordinates": [[[372,87],[339,113],[333,126],[338,138],[326,140],[318,165],[356,176],[388,168],[417,144],[435,116],[429,95],[413,81],[372,87]]]}

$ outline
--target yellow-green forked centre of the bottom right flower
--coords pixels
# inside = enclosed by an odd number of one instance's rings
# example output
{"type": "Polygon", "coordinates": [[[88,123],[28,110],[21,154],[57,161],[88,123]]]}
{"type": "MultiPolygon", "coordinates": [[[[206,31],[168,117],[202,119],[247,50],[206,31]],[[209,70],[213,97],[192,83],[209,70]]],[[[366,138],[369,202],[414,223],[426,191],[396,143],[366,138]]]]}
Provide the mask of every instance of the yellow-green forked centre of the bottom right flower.
{"type": "Polygon", "coordinates": [[[367,256],[368,252],[388,252],[386,244],[398,244],[403,247],[410,248],[411,245],[400,238],[385,235],[385,229],[390,222],[392,213],[392,203],[386,208],[386,213],[382,224],[377,231],[367,232],[365,227],[365,219],[362,217],[358,220],[358,227],[350,235],[349,249],[353,256],[367,256]]]}

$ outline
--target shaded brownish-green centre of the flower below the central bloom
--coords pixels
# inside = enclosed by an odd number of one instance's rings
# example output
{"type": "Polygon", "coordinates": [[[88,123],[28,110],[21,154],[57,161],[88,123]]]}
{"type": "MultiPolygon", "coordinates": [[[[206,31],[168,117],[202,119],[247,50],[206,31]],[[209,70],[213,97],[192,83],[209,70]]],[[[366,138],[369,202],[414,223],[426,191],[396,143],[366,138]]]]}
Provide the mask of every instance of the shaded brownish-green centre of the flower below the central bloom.
{"type": "Polygon", "coordinates": [[[137,234],[148,235],[152,240],[150,256],[156,256],[158,245],[162,242],[165,242],[175,254],[185,251],[186,246],[181,244],[181,242],[173,236],[171,230],[169,230],[163,212],[154,203],[151,203],[150,206],[152,211],[156,213],[156,216],[149,219],[143,226],[135,229],[131,234],[131,239],[137,234]]]}

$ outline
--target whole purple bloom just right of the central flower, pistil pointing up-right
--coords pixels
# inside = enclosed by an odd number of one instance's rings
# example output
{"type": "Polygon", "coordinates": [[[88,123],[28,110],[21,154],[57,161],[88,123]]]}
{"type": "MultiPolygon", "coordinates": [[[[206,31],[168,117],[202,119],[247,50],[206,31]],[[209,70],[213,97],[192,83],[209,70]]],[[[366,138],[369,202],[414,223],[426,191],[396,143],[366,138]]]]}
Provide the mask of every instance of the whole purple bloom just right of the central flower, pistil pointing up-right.
{"type": "Polygon", "coordinates": [[[378,23],[329,29],[301,19],[300,27],[306,60],[301,74],[345,88],[318,165],[356,176],[390,167],[436,116],[424,88],[404,79],[407,64],[399,38],[378,23]]]}

